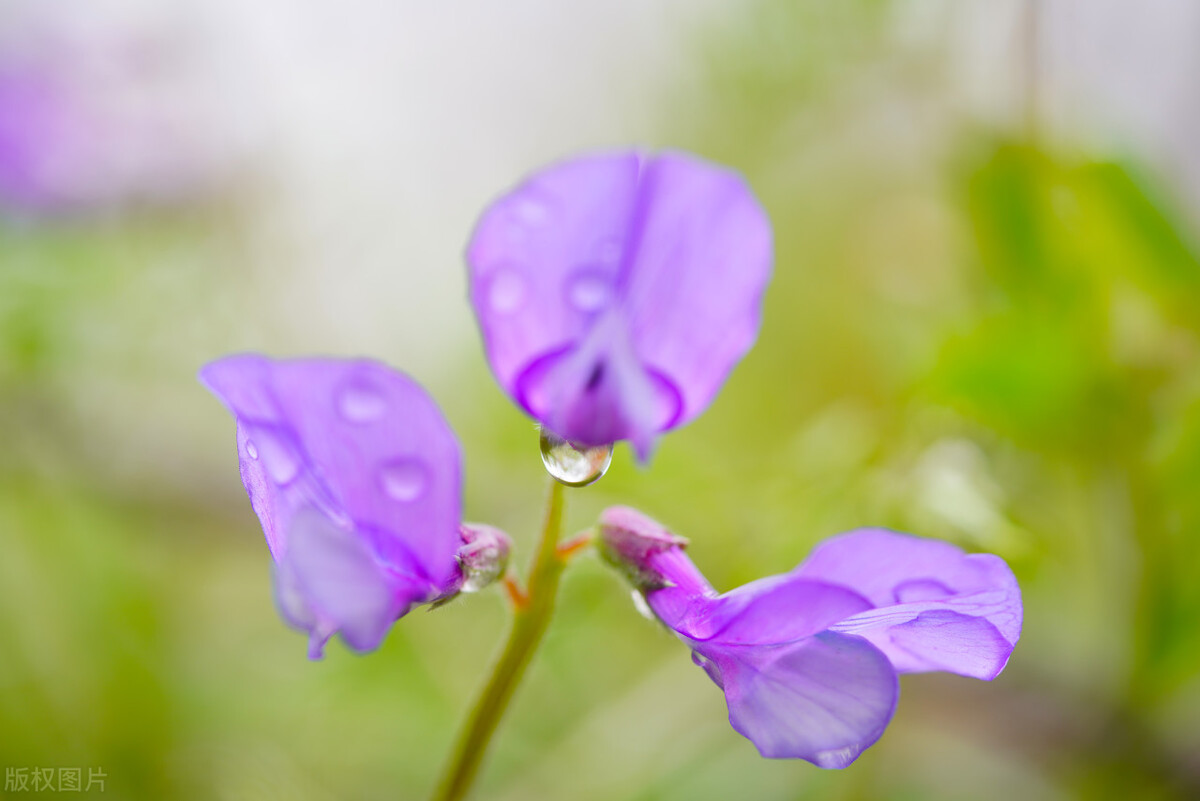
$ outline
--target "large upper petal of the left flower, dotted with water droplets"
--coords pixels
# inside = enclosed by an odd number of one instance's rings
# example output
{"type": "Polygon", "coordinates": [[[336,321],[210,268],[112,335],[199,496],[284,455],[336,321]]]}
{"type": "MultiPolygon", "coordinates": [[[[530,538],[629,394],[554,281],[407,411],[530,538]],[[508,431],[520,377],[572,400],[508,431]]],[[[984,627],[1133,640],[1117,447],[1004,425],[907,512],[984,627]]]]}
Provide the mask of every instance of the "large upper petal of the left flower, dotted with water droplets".
{"type": "Polygon", "coordinates": [[[458,444],[416,383],[367,360],[258,355],[212,362],[200,380],[238,418],[242,482],[277,561],[290,518],[313,507],[392,571],[455,579],[458,444]]]}

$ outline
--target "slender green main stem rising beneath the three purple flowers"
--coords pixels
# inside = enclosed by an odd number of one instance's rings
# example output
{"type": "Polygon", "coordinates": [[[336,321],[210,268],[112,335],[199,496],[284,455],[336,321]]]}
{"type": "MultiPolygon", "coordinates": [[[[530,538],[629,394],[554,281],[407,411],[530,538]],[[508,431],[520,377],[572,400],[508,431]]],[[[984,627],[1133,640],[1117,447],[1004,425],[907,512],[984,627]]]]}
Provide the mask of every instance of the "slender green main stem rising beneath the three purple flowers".
{"type": "Polygon", "coordinates": [[[496,731],[504,710],[512,699],[512,692],[521,682],[529,660],[538,650],[542,634],[546,633],[546,626],[554,613],[558,578],[566,565],[565,559],[558,553],[562,529],[563,486],[552,481],[541,541],[538,543],[538,553],[534,554],[533,567],[529,570],[526,603],[517,607],[509,642],[496,662],[484,692],[472,709],[470,717],[458,734],[454,758],[446,765],[442,782],[433,795],[436,801],[456,801],[467,795],[479,772],[492,733],[496,731]]]}

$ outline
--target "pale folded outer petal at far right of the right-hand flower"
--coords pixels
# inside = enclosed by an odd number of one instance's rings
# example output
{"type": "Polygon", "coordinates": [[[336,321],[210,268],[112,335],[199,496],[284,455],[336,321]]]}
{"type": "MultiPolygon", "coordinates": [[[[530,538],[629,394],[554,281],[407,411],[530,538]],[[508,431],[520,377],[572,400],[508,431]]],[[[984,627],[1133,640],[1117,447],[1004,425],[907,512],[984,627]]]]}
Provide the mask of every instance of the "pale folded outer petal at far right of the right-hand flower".
{"type": "Polygon", "coordinates": [[[1021,633],[1021,594],[998,556],[880,529],[834,537],[793,571],[866,597],[876,609],[832,626],[870,639],[898,670],[994,679],[1021,633]]]}

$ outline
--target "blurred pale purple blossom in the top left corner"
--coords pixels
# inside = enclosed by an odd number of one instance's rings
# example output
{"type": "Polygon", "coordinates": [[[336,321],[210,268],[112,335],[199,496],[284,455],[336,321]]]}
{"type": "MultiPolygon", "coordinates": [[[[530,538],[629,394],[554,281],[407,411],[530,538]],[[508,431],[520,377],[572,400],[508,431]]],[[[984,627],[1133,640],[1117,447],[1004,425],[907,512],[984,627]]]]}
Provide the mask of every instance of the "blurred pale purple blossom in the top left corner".
{"type": "Polygon", "coordinates": [[[0,11],[0,213],[176,203],[227,177],[242,133],[167,20],[0,11]]]}

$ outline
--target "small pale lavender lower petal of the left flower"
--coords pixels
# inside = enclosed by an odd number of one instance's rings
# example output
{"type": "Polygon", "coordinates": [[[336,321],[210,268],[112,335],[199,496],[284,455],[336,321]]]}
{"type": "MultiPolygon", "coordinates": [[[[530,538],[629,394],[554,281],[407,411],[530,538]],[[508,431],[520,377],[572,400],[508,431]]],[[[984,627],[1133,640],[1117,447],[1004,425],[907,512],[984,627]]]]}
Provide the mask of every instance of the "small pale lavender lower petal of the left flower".
{"type": "Polygon", "coordinates": [[[428,592],[424,582],[391,574],[353,531],[313,510],[288,526],[287,554],[275,570],[275,600],[292,626],[308,632],[308,658],[340,632],[355,651],[379,646],[389,626],[428,592]]]}

